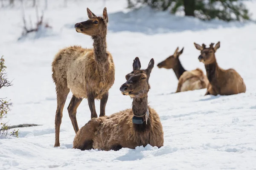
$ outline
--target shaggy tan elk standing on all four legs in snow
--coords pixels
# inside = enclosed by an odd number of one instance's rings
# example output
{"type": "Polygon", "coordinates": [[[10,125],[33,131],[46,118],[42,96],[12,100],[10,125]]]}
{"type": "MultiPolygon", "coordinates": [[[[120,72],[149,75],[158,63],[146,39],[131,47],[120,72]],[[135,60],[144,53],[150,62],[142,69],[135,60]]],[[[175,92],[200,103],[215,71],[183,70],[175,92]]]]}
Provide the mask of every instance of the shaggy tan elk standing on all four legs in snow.
{"type": "Polygon", "coordinates": [[[91,118],[98,117],[94,100],[100,99],[100,115],[105,116],[108,90],[114,83],[115,68],[111,54],[106,51],[108,14],[103,10],[103,18],[96,17],[88,8],[89,20],[76,23],[77,32],[90,35],[93,49],[71,46],[60,50],[52,62],[52,79],[57,93],[55,116],[55,147],[59,146],[59,133],[62,111],[71,91],[73,97],[67,108],[75,132],[79,130],[76,109],[83,98],[88,99],[91,118]]]}

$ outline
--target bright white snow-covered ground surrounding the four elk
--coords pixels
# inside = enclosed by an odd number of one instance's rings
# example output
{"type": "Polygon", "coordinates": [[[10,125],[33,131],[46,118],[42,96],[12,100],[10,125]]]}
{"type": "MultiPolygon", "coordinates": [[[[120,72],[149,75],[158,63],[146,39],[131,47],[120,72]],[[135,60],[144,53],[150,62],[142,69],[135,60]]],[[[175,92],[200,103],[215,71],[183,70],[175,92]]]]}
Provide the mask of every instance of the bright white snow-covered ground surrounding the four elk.
{"type": "MultiPolygon", "coordinates": [[[[44,8],[40,1],[39,11],[44,8]]],[[[20,137],[0,139],[0,170],[6,169],[161,169],[161,170],[255,170],[256,169],[256,24],[202,22],[190,17],[175,17],[148,8],[131,12],[126,0],[74,0],[64,7],[63,0],[48,1],[44,18],[53,27],[41,35],[30,35],[19,41],[22,12],[15,7],[0,8],[0,55],[4,55],[13,86],[3,88],[1,97],[12,99],[8,114],[11,125],[35,123],[41,126],[19,128],[20,137]],[[79,34],[74,23],[87,20],[86,8],[96,15],[108,9],[108,50],[116,66],[116,80],[109,91],[106,114],[131,108],[132,100],[119,91],[125,74],[131,71],[135,57],[142,68],[151,58],[155,67],[149,82],[148,100],[160,115],[164,146],[146,146],[119,151],[74,150],[75,132],[67,113],[70,93],[63,112],[60,147],[55,141],[55,85],[51,62],[60,48],[68,45],[92,47],[89,36],[79,34]],[[46,36],[47,35],[47,36],[46,36]],[[35,38],[36,37],[36,38],[35,38]],[[177,78],[172,70],[159,69],[157,63],[184,47],[180,60],[187,70],[201,68],[199,44],[221,41],[216,52],[222,68],[235,68],[247,87],[244,94],[204,96],[206,89],[172,94],[177,78]]],[[[256,1],[247,2],[255,12],[256,1]]],[[[25,6],[26,17],[35,9],[25,6]]],[[[253,13],[256,19],[256,13],[253,13]]],[[[35,22],[35,17],[32,16],[35,22]]],[[[33,22],[33,23],[34,23],[33,22]]],[[[99,115],[99,101],[96,102],[99,115]]],[[[79,127],[90,119],[87,100],[77,111],[79,127]]]]}

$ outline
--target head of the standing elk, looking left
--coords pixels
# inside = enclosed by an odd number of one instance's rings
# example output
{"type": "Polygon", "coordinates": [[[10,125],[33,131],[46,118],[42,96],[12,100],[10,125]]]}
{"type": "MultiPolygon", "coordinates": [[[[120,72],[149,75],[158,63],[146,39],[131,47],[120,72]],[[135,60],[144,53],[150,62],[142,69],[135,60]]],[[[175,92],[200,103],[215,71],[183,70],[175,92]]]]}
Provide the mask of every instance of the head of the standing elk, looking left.
{"type": "Polygon", "coordinates": [[[106,7],[103,9],[103,17],[97,17],[89,8],[87,8],[87,14],[89,20],[75,24],[76,32],[93,37],[101,34],[102,30],[107,30],[108,13],[106,7]]]}

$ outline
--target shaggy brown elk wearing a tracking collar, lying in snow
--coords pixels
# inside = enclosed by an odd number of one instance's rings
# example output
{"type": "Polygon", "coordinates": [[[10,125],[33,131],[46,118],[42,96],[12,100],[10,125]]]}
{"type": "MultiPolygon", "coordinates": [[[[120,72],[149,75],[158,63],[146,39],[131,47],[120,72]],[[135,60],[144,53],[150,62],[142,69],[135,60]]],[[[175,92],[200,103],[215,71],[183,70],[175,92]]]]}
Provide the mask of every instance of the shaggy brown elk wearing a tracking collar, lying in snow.
{"type": "Polygon", "coordinates": [[[148,106],[148,79],[153,67],[154,59],[151,59],[148,68],[140,70],[140,60],[138,57],[135,58],[133,71],[125,76],[127,81],[120,87],[122,94],[133,98],[132,109],[91,119],[76,133],[73,148],[119,150],[122,147],[145,147],[147,144],[163,146],[163,127],[160,118],[157,112],[148,106]],[[134,124],[133,116],[143,116],[147,109],[147,122],[134,124]]]}

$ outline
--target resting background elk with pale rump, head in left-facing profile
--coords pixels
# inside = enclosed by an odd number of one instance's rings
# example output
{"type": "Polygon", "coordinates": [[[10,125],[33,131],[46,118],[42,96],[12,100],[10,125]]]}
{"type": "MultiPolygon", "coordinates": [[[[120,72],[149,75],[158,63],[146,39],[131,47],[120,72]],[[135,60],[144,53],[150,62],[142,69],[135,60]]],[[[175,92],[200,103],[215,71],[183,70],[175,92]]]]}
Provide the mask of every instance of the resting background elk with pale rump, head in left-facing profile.
{"type": "Polygon", "coordinates": [[[175,93],[207,88],[209,81],[200,68],[192,71],[186,71],[181,65],[179,57],[180,54],[183,53],[183,49],[184,48],[179,51],[179,48],[177,48],[172,56],[157,64],[157,67],[173,69],[177,79],[179,80],[175,93]]]}

